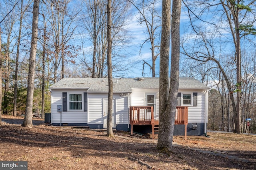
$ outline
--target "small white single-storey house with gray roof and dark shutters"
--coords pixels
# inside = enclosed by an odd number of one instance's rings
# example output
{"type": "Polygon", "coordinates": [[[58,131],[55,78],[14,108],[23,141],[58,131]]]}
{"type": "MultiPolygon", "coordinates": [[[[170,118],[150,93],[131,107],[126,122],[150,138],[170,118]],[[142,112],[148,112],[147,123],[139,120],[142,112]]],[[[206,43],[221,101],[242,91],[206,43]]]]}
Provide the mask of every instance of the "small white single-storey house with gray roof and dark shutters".
{"type": "MultiPolygon", "coordinates": [[[[177,106],[188,106],[188,135],[206,133],[208,89],[194,78],[180,78],[177,106]]],[[[52,125],[106,128],[108,79],[64,78],[50,91],[52,125]]],[[[158,102],[159,78],[113,79],[113,128],[129,130],[130,106],[153,106],[158,119],[158,102]]],[[[175,125],[174,135],[184,135],[184,126],[175,125]]]]}

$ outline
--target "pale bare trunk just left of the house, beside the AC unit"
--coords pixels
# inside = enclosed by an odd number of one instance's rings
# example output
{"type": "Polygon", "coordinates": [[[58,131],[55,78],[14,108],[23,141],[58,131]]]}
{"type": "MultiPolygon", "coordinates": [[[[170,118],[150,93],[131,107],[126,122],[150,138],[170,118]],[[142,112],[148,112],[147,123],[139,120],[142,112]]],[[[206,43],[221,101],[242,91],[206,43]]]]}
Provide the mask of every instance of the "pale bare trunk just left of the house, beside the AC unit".
{"type": "Polygon", "coordinates": [[[34,94],[34,79],[35,79],[35,65],[36,65],[36,46],[38,38],[38,16],[39,16],[39,2],[40,0],[34,0],[33,5],[33,20],[32,20],[32,38],[30,48],[29,59],[29,71],[28,71],[28,92],[26,100],[26,111],[22,126],[33,127],[33,94],[34,94]]]}

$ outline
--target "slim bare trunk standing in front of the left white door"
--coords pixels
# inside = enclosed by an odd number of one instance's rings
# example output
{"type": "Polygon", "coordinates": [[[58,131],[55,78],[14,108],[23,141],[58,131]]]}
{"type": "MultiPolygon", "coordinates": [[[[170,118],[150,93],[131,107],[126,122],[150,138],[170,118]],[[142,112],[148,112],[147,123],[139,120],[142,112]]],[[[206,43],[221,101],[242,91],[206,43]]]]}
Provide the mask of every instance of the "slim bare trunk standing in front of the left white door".
{"type": "Polygon", "coordinates": [[[107,51],[107,63],[108,63],[108,121],[107,121],[107,136],[114,137],[112,129],[112,105],[113,105],[113,79],[112,79],[112,37],[111,37],[111,27],[112,27],[112,0],[108,0],[107,14],[108,14],[108,26],[107,26],[107,39],[108,39],[108,51],[107,51]]]}

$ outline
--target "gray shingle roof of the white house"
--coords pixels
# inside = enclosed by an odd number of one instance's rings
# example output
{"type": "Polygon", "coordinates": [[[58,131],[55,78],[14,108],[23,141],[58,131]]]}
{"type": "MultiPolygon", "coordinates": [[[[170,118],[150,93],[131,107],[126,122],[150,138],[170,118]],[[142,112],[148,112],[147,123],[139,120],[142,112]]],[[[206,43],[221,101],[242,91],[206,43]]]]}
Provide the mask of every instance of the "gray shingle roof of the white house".
{"type": "MultiPolygon", "coordinates": [[[[132,92],[132,88],[158,89],[159,77],[138,79],[113,79],[114,92],[132,92]]],[[[107,78],[64,78],[50,86],[50,89],[88,89],[88,92],[108,92],[107,78]]],[[[209,89],[194,78],[180,77],[179,89],[209,89]]]]}

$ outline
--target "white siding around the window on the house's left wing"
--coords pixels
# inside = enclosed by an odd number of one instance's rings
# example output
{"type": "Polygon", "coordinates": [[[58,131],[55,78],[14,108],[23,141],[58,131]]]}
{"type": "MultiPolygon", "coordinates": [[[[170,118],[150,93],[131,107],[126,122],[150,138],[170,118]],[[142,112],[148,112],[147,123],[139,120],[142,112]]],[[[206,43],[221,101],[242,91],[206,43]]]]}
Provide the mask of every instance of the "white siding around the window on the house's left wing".
{"type": "MultiPolygon", "coordinates": [[[[52,89],[51,92],[51,122],[60,123],[87,123],[87,112],[84,111],[67,111],[67,112],[57,112],[57,105],[62,105],[62,92],[67,92],[69,94],[83,94],[86,90],[66,90],[52,89]]],[[[82,96],[83,98],[83,96],[82,96]]]]}

